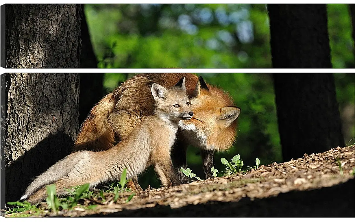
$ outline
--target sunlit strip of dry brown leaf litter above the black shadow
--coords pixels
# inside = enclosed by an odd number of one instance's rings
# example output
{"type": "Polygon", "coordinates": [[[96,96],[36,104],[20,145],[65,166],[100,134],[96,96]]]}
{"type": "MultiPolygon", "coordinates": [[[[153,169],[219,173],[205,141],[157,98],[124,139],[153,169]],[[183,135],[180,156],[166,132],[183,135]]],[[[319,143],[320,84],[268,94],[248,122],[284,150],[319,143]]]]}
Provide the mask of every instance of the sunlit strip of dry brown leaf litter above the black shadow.
{"type": "MultiPolygon", "coordinates": [[[[248,174],[229,175],[204,181],[195,181],[171,188],[147,189],[133,196],[124,193],[116,202],[112,194],[106,194],[105,203],[85,200],[84,205],[97,204],[94,210],[75,208],[59,212],[61,216],[87,216],[97,213],[113,213],[157,205],[179,208],[203,204],[208,201],[238,201],[244,197],[264,198],[277,196],[292,190],[309,190],[344,183],[354,178],[355,146],[333,148],[324,153],[305,155],[304,158],[285,163],[273,163],[252,169],[248,174]],[[339,163],[343,174],[340,173],[339,163]],[[111,196],[109,196],[111,195],[111,196]]],[[[46,213],[43,216],[53,216],[46,213]]]]}

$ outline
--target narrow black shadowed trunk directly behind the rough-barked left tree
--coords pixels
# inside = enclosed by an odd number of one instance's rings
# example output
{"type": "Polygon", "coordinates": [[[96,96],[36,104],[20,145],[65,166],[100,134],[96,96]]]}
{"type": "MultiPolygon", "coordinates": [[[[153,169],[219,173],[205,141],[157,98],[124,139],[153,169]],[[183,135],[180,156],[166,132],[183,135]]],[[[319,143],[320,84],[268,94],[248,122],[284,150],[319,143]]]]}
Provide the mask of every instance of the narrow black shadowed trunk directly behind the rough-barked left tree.
{"type": "MultiPolygon", "coordinates": [[[[82,5],[84,10],[84,5],[82,5]]],[[[92,48],[88,25],[84,11],[81,22],[81,68],[97,68],[97,59],[92,48]]],[[[80,99],[79,99],[79,124],[81,125],[89,114],[91,108],[100,101],[103,96],[103,74],[81,73],[80,74],[80,99]]]]}

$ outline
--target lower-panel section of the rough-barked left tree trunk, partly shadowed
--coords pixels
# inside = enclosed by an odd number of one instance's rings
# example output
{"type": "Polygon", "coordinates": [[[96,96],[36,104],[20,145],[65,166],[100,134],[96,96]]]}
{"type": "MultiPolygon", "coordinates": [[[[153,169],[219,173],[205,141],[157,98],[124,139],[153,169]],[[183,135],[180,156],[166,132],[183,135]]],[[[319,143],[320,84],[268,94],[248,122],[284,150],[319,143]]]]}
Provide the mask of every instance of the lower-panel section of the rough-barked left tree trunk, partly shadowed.
{"type": "Polygon", "coordinates": [[[1,75],[2,206],[69,154],[78,131],[78,96],[78,74],[1,75]]]}

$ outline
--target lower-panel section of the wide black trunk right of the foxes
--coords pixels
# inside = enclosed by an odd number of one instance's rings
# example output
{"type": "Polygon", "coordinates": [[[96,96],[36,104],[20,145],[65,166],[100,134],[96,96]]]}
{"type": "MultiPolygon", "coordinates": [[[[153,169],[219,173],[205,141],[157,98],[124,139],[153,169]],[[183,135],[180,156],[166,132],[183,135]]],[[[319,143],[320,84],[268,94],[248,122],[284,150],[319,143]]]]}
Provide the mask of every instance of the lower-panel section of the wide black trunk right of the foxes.
{"type": "Polygon", "coordinates": [[[344,147],[333,74],[274,74],[284,161],[344,147]]]}

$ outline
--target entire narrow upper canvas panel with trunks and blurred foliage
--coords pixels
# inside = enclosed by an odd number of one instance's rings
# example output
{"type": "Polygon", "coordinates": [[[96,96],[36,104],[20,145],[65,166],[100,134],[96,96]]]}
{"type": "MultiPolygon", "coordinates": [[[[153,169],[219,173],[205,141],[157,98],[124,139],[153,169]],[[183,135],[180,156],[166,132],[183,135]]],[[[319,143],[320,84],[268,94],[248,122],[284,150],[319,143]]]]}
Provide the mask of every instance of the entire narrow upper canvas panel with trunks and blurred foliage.
{"type": "Polygon", "coordinates": [[[347,4],[6,4],[1,66],[354,68],[354,11],[347,4]]]}

